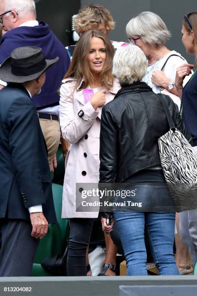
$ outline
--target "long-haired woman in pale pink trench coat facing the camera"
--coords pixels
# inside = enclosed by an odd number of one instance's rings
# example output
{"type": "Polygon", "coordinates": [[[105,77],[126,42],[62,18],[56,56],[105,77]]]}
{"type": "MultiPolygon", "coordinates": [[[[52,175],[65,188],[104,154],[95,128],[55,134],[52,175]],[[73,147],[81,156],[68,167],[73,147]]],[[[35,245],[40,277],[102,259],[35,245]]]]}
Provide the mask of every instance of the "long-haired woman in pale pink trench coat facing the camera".
{"type": "MultiPolygon", "coordinates": [[[[86,274],[85,252],[93,219],[98,217],[98,211],[76,211],[75,191],[76,183],[99,181],[102,106],[113,100],[120,88],[112,75],[112,62],[110,40],[98,30],[89,30],[78,41],[60,88],[60,126],[63,138],[71,143],[65,162],[62,205],[62,218],[70,219],[69,276],[86,274]],[[94,93],[90,100],[85,95],[86,89],[94,93]]],[[[83,187],[78,189],[82,190],[83,187]]]]}

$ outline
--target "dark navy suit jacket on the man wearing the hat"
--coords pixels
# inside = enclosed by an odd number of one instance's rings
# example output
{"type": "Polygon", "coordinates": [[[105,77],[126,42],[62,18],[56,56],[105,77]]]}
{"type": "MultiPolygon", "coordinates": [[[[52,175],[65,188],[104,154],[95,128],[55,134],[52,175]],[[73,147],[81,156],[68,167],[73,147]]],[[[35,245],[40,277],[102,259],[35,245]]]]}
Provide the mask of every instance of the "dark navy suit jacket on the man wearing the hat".
{"type": "Polygon", "coordinates": [[[36,108],[20,84],[0,90],[0,218],[29,220],[28,207],[42,204],[56,222],[47,161],[36,108]]]}

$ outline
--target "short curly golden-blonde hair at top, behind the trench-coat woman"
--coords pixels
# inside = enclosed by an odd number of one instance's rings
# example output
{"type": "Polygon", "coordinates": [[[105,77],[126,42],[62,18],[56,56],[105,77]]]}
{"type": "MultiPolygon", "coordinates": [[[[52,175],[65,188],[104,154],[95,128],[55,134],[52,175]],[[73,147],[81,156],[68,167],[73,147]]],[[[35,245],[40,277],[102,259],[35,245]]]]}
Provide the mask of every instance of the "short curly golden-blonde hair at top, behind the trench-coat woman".
{"type": "Polygon", "coordinates": [[[105,25],[107,33],[114,29],[115,22],[109,10],[99,4],[86,5],[79,10],[75,17],[74,29],[80,35],[87,30],[97,29],[102,23],[105,25]]]}

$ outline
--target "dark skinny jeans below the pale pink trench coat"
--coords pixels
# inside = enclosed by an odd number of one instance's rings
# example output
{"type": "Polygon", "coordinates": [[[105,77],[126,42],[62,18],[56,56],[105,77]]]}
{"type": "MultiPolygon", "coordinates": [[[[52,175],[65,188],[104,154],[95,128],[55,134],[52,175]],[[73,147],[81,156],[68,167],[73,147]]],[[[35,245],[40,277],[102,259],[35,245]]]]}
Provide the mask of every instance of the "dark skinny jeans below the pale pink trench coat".
{"type": "Polygon", "coordinates": [[[69,252],[67,260],[68,276],[85,276],[85,254],[89,244],[94,219],[70,219],[69,252]]]}

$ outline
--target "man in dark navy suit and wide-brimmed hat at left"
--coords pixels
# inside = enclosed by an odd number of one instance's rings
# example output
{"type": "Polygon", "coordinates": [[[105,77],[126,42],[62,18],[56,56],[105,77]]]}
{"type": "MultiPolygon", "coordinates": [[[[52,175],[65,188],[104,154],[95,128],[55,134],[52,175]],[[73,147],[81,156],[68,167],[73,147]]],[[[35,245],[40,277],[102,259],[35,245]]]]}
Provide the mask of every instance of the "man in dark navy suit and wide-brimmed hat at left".
{"type": "Polygon", "coordinates": [[[19,47],[0,67],[0,276],[30,276],[40,238],[56,222],[47,150],[31,97],[41,91],[46,60],[19,47]]]}

